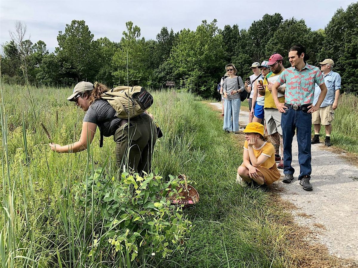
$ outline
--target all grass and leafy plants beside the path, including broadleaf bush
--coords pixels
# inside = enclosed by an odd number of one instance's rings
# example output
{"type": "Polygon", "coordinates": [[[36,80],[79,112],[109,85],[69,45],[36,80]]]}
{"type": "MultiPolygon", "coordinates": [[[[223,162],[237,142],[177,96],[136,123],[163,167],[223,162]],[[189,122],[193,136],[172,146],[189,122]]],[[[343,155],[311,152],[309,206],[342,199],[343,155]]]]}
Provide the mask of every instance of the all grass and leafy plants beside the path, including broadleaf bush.
{"type": "Polygon", "coordinates": [[[242,149],[202,99],[153,94],[150,112],[164,137],[156,143],[154,174],[140,177],[118,172],[113,140],[100,149],[98,131],[87,151],[50,150],[50,138],[67,144],[79,137],[83,112],[66,100],[71,89],[30,88],[34,107],[23,86],[1,90],[2,267],[299,263],[290,254],[290,215],[269,193],[235,183],[242,149]],[[164,198],[180,173],[200,193],[200,202],[184,212],[164,198]]]}

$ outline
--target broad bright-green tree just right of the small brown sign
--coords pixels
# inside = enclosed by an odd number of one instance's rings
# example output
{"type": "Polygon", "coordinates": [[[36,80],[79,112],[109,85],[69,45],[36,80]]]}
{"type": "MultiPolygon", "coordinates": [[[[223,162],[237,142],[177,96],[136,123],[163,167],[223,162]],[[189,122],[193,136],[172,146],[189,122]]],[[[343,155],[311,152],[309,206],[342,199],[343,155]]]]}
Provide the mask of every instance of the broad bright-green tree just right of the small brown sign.
{"type": "Polygon", "coordinates": [[[225,66],[223,38],[216,23],[216,19],[211,23],[203,20],[196,31],[182,30],[169,58],[180,86],[204,97],[212,96],[220,77],[217,74],[224,72],[225,66]]]}

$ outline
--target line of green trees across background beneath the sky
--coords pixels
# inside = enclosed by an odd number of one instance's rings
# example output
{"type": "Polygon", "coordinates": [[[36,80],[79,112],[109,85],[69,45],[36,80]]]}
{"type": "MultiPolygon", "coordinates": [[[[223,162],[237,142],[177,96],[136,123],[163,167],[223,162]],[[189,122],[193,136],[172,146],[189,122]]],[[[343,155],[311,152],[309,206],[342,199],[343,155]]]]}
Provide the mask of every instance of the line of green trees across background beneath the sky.
{"type": "MultiPolygon", "coordinates": [[[[238,75],[250,75],[253,62],[268,60],[274,52],[287,58],[288,49],[303,44],[309,64],[318,66],[326,58],[335,62],[342,76],[342,89],[358,94],[358,2],[338,9],[325,29],[316,31],[304,20],[284,20],[279,13],[265,14],[248,29],[237,24],[217,26],[202,21],[197,29],[174,33],[163,27],[156,40],[141,37],[140,27],[126,23],[120,42],[106,37],[94,39],[85,21],[73,20],[57,36],[58,47],[49,53],[39,40],[24,40],[26,28],[16,24],[11,41],[3,44],[1,73],[7,83],[70,86],[78,81],[100,81],[115,85],[163,88],[174,81],[203,97],[215,94],[224,66],[233,63],[238,75]]],[[[288,60],[284,66],[291,66],[288,60]]]]}

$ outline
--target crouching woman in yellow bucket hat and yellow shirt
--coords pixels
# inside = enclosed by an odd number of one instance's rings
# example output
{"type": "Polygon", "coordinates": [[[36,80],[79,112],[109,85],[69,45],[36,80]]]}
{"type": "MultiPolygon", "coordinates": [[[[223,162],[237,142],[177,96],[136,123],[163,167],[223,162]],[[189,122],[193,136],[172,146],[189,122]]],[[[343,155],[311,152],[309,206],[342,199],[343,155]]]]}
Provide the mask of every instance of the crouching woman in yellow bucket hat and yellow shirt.
{"type": "Polygon", "coordinates": [[[250,183],[271,185],[281,176],[275,162],[275,148],[267,142],[263,125],[249,123],[245,130],[243,163],[237,169],[237,179],[250,183]]]}

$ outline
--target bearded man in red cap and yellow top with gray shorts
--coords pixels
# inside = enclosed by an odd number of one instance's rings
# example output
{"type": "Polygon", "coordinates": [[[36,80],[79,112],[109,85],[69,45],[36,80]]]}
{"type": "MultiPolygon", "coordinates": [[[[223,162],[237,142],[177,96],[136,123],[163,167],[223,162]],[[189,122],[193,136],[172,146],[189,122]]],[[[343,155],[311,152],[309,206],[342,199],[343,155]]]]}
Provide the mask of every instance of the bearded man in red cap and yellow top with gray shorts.
{"type": "MultiPolygon", "coordinates": [[[[279,162],[277,168],[284,169],[284,144],[282,139],[282,128],[281,128],[281,113],[277,110],[275,101],[272,98],[271,89],[272,85],[276,83],[282,71],[285,70],[283,66],[283,57],[280,54],[274,53],[267,65],[270,66],[271,72],[266,75],[263,80],[263,88],[260,86],[258,93],[260,95],[265,95],[265,104],[263,109],[265,110],[265,122],[267,127],[267,134],[270,135],[272,145],[275,147],[275,160],[279,162]],[[280,145],[281,145],[281,155],[280,156],[280,145]]],[[[258,86],[259,88],[259,86],[258,86]]],[[[286,84],[281,85],[277,91],[277,96],[280,103],[285,103],[285,89],[286,84]]]]}

